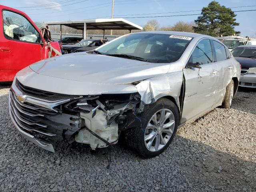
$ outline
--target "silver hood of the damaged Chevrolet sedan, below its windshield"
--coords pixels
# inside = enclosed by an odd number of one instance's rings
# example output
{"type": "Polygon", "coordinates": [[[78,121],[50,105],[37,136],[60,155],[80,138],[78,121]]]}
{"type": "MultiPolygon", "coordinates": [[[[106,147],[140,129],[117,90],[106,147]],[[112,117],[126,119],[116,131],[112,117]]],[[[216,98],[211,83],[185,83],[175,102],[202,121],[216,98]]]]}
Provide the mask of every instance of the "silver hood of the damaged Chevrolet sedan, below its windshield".
{"type": "Polygon", "coordinates": [[[148,63],[98,54],[74,53],[30,65],[45,76],[102,84],[128,84],[168,72],[169,63],[148,63]]]}

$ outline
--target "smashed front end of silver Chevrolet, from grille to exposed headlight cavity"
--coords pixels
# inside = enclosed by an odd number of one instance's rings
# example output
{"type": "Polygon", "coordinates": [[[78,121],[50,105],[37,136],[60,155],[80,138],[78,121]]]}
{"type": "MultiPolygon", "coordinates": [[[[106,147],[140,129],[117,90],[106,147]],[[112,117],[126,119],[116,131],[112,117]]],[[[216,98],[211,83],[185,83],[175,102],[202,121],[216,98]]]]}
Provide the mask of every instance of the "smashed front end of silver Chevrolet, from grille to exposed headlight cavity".
{"type": "Polygon", "coordinates": [[[10,90],[10,116],[19,132],[46,150],[65,140],[92,149],[116,144],[120,132],[141,126],[139,93],[70,96],[30,88],[18,80],[10,90]]]}

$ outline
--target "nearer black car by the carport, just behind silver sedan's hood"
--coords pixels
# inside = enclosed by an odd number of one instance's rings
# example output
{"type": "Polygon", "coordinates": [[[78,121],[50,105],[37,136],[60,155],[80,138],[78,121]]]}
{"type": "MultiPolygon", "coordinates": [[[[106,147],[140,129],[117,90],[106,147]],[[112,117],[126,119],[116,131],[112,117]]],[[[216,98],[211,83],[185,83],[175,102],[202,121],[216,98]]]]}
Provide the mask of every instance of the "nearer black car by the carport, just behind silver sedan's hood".
{"type": "Polygon", "coordinates": [[[75,53],[82,51],[90,51],[108,42],[109,40],[102,39],[83,39],[74,45],[62,45],[62,53],[75,53]]]}

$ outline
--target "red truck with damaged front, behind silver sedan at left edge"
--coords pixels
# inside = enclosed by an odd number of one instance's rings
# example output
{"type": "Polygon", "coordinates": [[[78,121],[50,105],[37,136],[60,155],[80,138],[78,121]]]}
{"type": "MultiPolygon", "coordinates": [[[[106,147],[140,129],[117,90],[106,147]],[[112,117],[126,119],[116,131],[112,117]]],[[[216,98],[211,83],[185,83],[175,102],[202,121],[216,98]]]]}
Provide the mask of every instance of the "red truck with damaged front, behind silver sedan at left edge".
{"type": "Polygon", "coordinates": [[[2,5],[0,10],[0,82],[12,81],[22,68],[60,54],[58,42],[24,12],[2,5]]]}

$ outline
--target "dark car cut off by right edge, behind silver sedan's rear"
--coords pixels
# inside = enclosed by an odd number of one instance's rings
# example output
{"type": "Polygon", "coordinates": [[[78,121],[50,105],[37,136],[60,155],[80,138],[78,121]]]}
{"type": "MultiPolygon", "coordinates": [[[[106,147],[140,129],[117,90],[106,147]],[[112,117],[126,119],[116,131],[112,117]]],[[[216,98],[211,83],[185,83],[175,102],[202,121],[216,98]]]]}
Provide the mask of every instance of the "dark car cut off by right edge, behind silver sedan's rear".
{"type": "Polygon", "coordinates": [[[232,54],[242,66],[239,86],[256,88],[256,45],[238,46],[232,54]]]}

